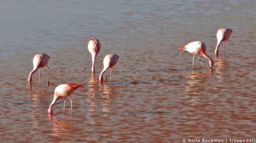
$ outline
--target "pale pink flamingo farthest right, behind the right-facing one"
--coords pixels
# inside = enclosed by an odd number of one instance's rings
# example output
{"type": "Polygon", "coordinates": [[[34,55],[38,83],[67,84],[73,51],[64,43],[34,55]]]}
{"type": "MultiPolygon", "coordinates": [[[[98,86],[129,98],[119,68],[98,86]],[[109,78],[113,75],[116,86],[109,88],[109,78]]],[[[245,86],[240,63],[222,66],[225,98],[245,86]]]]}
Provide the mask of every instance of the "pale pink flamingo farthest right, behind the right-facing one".
{"type": "Polygon", "coordinates": [[[226,44],[226,41],[229,39],[231,33],[233,31],[231,29],[226,29],[226,28],[221,28],[218,30],[217,32],[217,46],[216,46],[216,49],[215,49],[215,55],[218,56],[218,49],[219,49],[219,46],[221,44],[221,53],[222,53],[222,41],[224,41],[224,51],[223,51],[223,54],[225,54],[225,44],[226,44]]]}

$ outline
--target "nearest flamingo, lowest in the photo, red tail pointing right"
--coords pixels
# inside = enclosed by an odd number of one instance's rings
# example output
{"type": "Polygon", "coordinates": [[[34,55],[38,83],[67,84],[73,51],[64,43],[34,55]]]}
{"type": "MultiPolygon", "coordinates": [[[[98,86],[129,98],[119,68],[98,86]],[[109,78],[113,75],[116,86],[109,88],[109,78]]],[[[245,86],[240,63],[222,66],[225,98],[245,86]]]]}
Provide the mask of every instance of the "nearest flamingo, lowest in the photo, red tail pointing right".
{"type": "Polygon", "coordinates": [[[65,84],[58,85],[55,88],[54,98],[53,98],[53,101],[51,102],[50,107],[48,109],[48,114],[53,113],[52,106],[61,97],[64,97],[63,114],[65,114],[66,97],[68,97],[70,99],[70,102],[71,102],[71,115],[72,115],[73,114],[73,112],[72,112],[72,100],[69,96],[72,92],[74,92],[79,87],[84,87],[84,86],[82,86],[81,84],[71,84],[71,83],[65,83],[65,84]]]}

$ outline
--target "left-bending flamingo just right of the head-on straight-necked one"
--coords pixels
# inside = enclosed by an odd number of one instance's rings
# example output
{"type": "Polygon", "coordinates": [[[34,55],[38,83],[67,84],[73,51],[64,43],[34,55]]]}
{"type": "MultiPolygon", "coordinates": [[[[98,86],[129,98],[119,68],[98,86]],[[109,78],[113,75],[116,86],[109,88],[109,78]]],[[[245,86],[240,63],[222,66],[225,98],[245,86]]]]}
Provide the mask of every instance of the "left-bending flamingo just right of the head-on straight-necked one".
{"type": "MultiPolygon", "coordinates": [[[[119,58],[119,56],[117,56],[116,54],[108,54],[108,55],[105,56],[105,58],[103,60],[104,68],[103,68],[103,70],[102,70],[102,72],[100,73],[100,76],[99,76],[100,82],[103,81],[103,74],[104,74],[104,72],[106,72],[107,69],[109,69],[109,68],[110,68],[110,71],[108,71],[107,75],[110,72],[110,79],[109,79],[109,81],[111,80],[112,68],[116,65],[116,62],[118,61],[118,58],[119,58]]],[[[105,77],[105,81],[106,81],[107,75],[105,77]]]]}

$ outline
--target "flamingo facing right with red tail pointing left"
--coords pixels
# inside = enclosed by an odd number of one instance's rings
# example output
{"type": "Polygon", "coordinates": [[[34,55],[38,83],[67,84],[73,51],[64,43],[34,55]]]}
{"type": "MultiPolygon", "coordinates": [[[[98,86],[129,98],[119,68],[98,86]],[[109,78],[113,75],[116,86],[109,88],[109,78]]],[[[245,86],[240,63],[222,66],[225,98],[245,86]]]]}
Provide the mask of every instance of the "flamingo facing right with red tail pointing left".
{"type": "Polygon", "coordinates": [[[198,60],[201,62],[202,66],[204,67],[200,57],[199,57],[199,54],[201,53],[206,59],[209,60],[209,65],[210,65],[210,68],[212,68],[213,66],[213,61],[211,60],[211,58],[205,53],[206,52],[206,46],[203,42],[201,41],[194,41],[194,42],[190,42],[188,44],[186,44],[185,46],[182,46],[179,48],[179,50],[186,50],[192,54],[194,54],[194,57],[193,57],[193,63],[192,63],[192,68],[194,67],[194,60],[195,60],[195,55],[198,54],[198,60]]]}

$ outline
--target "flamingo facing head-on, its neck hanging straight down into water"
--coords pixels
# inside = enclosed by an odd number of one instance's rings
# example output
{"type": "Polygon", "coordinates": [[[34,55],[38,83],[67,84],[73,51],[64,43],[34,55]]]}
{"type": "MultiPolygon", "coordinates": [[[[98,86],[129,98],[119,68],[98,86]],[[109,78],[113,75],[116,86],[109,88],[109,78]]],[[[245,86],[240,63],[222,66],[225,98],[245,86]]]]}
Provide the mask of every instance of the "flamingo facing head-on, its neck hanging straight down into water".
{"type": "Polygon", "coordinates": [[[98,41],[97,39],[95,39],[93,37],[88,43],[88,50],[92,54],[92,61],[93,61],[92,73],[93,73],[93,75],[95,72],[95,68],[94,68],[95,60],[96,60],[97,54],[99,53],[100,49],[101,49],[100,41],[98,41]]]}

